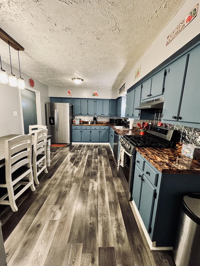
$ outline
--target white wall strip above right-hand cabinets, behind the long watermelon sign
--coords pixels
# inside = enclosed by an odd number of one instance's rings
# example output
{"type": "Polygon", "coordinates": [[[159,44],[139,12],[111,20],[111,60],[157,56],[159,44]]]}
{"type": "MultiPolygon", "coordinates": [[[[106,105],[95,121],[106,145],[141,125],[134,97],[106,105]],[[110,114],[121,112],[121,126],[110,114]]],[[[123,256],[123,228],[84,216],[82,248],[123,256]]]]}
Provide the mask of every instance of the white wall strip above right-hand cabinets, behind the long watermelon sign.
{"type": "Polygon", "coordinates": [[[178,24],[187,16],[187,14],[197,5],[197,0],[187,0],[179,12],[175,15],[168,26],[163,30],[158,39],[135,64],[133,70],[121,83],[119,88],[125,82],[125,90],[129,89],[141,78],[147,75],[151,70],[168,59],[181,47],[191,41],[200,33],[200,5],[198,7],[197,17],[195,17],[167,46],[167,37],[178,26],[178,24]],[[141,65],[140,76],[134,80],[135,70],[141,65]]]}

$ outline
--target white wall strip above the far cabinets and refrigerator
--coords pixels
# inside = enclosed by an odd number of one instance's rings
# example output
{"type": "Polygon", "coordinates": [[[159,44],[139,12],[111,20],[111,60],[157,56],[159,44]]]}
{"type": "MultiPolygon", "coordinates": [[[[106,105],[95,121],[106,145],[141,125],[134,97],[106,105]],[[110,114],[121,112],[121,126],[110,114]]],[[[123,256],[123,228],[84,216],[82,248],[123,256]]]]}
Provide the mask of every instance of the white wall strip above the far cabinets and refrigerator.
{"type": "MultiPolygon", "coordinates": [[[[78,86],[78,85],[77,85],[78,86]]],[[[68,88],[71,89],[71,88],[68,88]]],[[[72,88],[72,98],[94,99],[92,92],[95,89],[74,89],[72,88]]],[[[116,99],[116,90],[113,89],[97,89],[98,99],[116,99]]],[[[49,97],[67,97],[67,88],[49,87],[49,97]]]]}

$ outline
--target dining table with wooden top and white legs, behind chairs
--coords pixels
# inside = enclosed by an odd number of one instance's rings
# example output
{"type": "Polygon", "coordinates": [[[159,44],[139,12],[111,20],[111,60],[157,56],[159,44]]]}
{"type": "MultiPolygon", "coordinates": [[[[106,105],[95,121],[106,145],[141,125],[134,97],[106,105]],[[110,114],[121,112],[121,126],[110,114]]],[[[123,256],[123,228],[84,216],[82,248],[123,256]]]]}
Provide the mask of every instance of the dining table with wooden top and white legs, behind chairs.
{"type": "MultiPolygon", "coordinates": [[[[19,134],[10,134],[6,136],[0,137],[0,167],[5,165],[5,140],[14,138],[19,136],[19,134]]],[[[46,159],[47,159],[47,167],[49,167],[51,164],[50,160],[50,146],[51,146],[51,135],[47,135],[47,147],[46,147],[46,159]]],[[[32,135],[32,146],[34,143],[34,135],[32,135]]]]}

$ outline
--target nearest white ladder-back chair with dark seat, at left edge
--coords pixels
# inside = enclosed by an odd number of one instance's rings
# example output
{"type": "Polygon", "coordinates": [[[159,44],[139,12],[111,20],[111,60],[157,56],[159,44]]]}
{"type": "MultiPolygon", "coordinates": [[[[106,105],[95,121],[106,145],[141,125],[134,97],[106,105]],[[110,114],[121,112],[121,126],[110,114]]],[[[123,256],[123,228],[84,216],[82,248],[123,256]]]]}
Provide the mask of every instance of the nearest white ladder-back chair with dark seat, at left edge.
{"type": "Polygon", "coordinates": [[[31,158],[31,134],[5,141],[5,167],[0,168],[0,188],[5,189],[5,194],[0,197],[0,204],[10,205],[13,211],[18,210],[15,200],[27,188],[35,191],[31,158]],[[23,181],[27,176],[28,180],[23,181]]]}

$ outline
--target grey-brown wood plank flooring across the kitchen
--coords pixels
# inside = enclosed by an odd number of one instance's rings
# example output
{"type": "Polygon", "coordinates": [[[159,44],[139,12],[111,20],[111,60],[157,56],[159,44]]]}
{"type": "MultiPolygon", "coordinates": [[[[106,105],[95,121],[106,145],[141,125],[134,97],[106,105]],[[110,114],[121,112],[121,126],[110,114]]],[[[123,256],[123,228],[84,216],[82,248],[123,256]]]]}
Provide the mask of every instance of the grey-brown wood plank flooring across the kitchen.
{"type": "MultiPolygon", "coordinates": [[[[51,147],[36,191],[0,205],[10,266],[174,266],[138,228],[109,145],[51,147]]],[[[1,263],[0,263],[1,264],[1,263]]]]}

